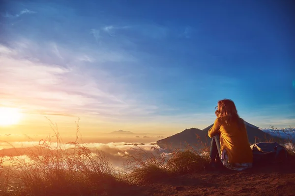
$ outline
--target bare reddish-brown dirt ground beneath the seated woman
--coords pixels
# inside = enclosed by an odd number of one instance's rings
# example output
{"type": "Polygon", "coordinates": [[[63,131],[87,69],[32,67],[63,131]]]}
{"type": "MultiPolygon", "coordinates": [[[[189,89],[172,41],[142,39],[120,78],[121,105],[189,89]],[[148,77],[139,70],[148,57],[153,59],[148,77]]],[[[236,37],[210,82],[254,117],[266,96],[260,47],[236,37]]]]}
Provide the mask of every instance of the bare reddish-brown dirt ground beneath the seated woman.
{"type": "Polygon", "coordinates": [[[128,195],[133,196],[295,196],[295,158],[282,165],[204,171],[131,189],[128,195]]]}

